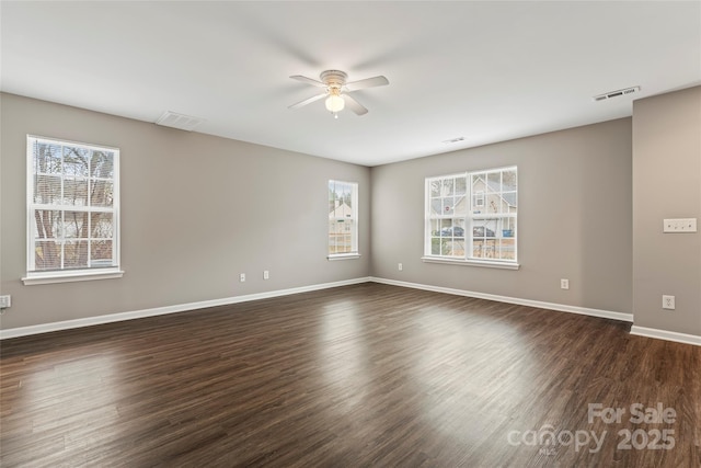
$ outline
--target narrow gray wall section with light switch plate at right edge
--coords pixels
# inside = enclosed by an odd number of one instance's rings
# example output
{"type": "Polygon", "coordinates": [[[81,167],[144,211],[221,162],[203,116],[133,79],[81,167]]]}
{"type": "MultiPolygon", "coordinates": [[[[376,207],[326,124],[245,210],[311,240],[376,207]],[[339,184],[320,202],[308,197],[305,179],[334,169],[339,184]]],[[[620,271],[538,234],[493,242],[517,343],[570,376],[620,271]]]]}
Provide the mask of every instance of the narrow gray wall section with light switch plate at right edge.
{"type": "Polygon", "coordinates": [[[664,218],[701,220],[701,87],[633,106],[634,324],[701,335],[701,235],[663,233],[664,218]]]}

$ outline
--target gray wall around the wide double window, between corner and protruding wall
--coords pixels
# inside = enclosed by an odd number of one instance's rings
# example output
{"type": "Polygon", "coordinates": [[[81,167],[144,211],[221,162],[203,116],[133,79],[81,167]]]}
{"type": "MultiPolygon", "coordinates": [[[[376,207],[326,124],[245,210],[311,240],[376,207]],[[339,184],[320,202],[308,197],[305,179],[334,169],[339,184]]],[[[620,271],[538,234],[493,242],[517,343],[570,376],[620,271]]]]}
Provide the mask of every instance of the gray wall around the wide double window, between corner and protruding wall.
{"type": "Polygon", "coordinates": [[[630,118],[376,167],[371,175],[374,276],[632,312],[630,118]],[[520,270],[423,263],[424,179],[512,164],[520,270]]]}

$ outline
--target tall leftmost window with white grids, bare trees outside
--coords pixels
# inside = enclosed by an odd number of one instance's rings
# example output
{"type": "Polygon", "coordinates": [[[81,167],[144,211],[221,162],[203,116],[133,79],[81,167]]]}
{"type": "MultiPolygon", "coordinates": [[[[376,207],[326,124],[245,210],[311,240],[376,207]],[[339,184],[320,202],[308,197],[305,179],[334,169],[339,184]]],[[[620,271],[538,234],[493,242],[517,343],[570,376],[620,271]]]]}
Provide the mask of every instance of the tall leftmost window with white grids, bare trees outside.
{"type": "Polygon", "coordinates": [[[25,284],[120,276],[119,150],[27,136],[25,284]]]}

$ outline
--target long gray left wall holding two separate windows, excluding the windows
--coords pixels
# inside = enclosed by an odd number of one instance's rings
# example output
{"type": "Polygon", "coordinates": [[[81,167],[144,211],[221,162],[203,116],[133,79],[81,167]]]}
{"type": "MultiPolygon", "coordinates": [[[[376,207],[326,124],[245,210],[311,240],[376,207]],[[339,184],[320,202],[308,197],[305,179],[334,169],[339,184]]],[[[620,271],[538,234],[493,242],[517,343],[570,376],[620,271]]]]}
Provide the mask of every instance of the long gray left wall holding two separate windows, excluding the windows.
{"type": "Polygon", "coordinates": [[[1,95],[2,329],[366,277],[370,170],[1,95]],[[24,286],[26,135],[120,148],[123,278],[24,286]],[[361,258],[326,260],[327,180],[359,183],[361,258]],[[263,279],[269,270],[271,279],[263,279]],[[239,283],[239,273],[246,273],[239,283]]]}

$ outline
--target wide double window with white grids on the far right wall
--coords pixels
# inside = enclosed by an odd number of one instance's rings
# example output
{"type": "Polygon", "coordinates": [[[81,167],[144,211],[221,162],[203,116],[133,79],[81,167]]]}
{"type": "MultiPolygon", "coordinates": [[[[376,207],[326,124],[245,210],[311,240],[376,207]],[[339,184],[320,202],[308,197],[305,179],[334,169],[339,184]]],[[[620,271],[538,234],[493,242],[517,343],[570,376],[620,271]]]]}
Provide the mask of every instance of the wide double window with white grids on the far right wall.
{"type": "Polygon", "coordinates": [[[424,260],[517,267],[516,168],[426,179],[424,260]]]}

